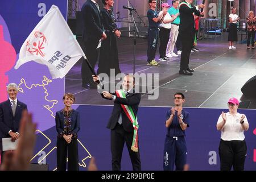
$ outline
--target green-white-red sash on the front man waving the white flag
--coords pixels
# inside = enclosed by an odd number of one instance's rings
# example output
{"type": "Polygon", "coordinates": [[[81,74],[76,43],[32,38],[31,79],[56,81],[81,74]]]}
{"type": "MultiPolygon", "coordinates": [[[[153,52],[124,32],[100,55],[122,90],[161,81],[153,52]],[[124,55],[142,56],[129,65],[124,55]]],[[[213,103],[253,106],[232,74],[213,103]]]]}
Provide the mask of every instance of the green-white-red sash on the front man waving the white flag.
{"type": "MultiPolygon", "coordinates": [[[[117,94],[117,97],[126,98],[125,93],[123,93],[123,90],[116,90],[115,93],[117,94]]],[[[126,116],[129,118],[131,123],[133,123],[134,133],[133,133],[133,144],[131,144],[131,150],[134,152],[138,152],[138,121],[137,117],[135,118],[133,109],[131,106],[123,105],[121,104],[123,111],[125,111],[126,116]]]]}

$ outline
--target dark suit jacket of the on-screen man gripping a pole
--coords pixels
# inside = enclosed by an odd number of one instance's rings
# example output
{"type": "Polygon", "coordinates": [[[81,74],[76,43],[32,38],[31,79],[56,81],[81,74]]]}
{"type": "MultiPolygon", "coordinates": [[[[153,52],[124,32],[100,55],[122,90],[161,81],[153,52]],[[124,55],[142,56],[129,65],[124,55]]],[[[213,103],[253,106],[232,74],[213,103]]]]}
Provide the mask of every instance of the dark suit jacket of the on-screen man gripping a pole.
{"type": "Polygon", "coordinates": [[[179,32],[181,34],[192,34],[195,32],[195,15],[200,16],[200,12],[196,10],[196,7],[192,5],[192,8],[189,8],[187,5],[181,5],[180,8],[180,27],[179,32]]]}

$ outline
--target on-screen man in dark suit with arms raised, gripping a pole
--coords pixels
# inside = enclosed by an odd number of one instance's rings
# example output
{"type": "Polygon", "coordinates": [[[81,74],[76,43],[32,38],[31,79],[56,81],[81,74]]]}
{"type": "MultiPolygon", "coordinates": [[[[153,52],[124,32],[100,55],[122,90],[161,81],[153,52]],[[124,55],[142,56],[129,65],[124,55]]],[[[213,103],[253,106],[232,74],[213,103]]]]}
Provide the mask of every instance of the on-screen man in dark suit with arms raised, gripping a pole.
{"type": "MultiPolygon", "coordinates": [[[[195,38],[195,20],[194,15],[200,16],[199,9],[204,8],[204,5],[192,5],[193,0],[185,0],[180,3],[180,27],[179,35],[181,38],[182,51],[180,57],[180,71],[182,75],[193,75],[193,69],[188,67],[189,56],[193,47],[193,39],[195,38]]],[[[203,15],[201,13],[201,15],[203,15]]]]}

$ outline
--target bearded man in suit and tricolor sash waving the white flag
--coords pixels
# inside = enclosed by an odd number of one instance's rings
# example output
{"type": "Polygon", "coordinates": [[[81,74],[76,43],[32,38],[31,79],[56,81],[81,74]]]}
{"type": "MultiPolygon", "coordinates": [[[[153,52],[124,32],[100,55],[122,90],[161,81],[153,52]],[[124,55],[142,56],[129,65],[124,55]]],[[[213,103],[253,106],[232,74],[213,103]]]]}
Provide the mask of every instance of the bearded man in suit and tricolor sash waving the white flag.
{"type": "MultiPolygon", "coordinates": [[[[93,80],[97,81],[99,78],[94,76],[93,80]]],[[[139,102],[141,102],[141,94],[134,93],[133,88],[134,77],[132,75],[126,75],[123,78],[122,90],[116,90],[115,94],[110,94],[106,91],[102,92],[103,98],[114,101],[114,108],[107,126],[107,128],[111,130],[113,171],[121,170],[123,145],[125,143],[129,151],[133,170],[141,171],[137,133],[139,127],[137,123],[137,113],[139,102]],[[132,115],[134,115],[134,117],[132,115]]]]}

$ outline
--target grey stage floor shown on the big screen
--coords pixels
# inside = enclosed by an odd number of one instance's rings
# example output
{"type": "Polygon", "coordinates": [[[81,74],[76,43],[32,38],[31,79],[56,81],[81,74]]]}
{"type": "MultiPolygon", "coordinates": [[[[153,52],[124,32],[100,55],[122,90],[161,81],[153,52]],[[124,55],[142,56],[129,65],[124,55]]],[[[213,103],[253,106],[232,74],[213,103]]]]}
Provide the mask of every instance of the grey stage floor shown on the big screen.
{"type": "MultiPolygon", "coordinates": [[[[159,46],[159,44],[158,44],[159,46]]],[[[204,39],[198,42],[200,51],[191,53],[189,66],[195,69],[193,76],[179,75],[180,56],[158,67],[146,65],[147,39],[137,39],[135,72],[159,73],[159,86],[147,91],[159,90],[157,100],[148,100],[142,95],[141,106],[172,106],[173,94],[185,94],[185,107],[227,108],[230,97],[241,101],[250,100],[245,108],[256,109],[256,99],[246,98],[241,92],[247,80],[256,75],[255,50],[246,49],[246,44],[237,43],[237,49],[229,50],[227,35],[204,39]]],[[[118,40],[119,65],[123,73],[133,73],[133,38],[118,40]]],[[[159,58],[159,49],[156,60],[159,58]]],[[[97,64],[96,64],[97,65],[97,64]]],[[[97,67],[95,68],[97,71],[97,67]]],[[[65,92],[75,94],[78,105],[113,105],[104,100],[96,89],[82,88],[81,60],[65,77],[65,92]]]]}

